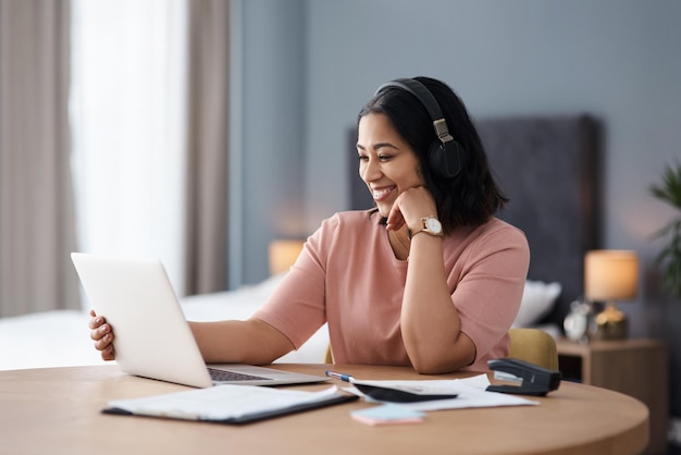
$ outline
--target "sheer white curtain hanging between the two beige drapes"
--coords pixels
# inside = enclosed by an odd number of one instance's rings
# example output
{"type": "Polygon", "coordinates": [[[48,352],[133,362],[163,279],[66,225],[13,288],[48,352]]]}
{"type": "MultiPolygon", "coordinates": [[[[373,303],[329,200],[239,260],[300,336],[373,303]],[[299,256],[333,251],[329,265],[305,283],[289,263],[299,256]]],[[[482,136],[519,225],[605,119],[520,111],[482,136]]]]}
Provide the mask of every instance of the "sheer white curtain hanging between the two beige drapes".
{"type": "Polygon", "coordinates": [[[184,293],[187,0],[72,0],[78,248],[161,259],[184,293]]]}

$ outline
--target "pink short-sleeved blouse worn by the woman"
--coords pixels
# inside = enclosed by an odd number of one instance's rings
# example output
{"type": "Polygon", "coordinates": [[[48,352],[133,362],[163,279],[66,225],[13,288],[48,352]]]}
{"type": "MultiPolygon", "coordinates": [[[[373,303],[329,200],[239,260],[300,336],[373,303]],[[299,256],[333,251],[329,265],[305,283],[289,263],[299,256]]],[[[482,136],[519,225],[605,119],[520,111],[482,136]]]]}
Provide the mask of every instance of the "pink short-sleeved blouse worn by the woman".
{"type": "MultiPolygon", "coordinates": [[[[380,220],[372,210],[324,220],[255,317],[296,348],[327,322],[336,364],[411,366],[400,332],[409,262],[395,258],[380,220]]],[[[508,330],[530,261],[528,242],[520,230],[493,218],[478,228],[456,229],[444,238],[443,254],[461,331],[476,349],[465,369],[488,371],[487,360],[508,354],[508,330]]]]}

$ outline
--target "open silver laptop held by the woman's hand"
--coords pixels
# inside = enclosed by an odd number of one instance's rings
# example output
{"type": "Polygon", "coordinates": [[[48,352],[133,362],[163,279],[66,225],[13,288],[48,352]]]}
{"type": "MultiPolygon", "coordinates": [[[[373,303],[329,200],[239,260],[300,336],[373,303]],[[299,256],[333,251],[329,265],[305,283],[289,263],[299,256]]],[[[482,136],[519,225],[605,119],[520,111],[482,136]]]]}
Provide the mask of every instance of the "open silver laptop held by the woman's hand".
{"type": "Polygon", "coordinates": [[[207,366],[160,260],[84,253],[71,258],[91,307],[114,328],[123,372],[195,388],[329,380],[252,365],[207,366]]]}

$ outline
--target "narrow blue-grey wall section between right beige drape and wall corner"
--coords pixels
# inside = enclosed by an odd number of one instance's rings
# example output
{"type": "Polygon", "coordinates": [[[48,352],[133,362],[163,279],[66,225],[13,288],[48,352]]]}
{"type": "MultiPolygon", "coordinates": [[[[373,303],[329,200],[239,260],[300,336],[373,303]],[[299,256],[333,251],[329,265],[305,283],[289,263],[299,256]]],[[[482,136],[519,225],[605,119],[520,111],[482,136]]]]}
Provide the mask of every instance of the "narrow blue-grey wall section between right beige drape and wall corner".
{"type": "Polygon", "coordinates": [[[234,1],[230,275],[268,275],[271,238],[305,230],[306,29],[301,1],[234,1]]]}

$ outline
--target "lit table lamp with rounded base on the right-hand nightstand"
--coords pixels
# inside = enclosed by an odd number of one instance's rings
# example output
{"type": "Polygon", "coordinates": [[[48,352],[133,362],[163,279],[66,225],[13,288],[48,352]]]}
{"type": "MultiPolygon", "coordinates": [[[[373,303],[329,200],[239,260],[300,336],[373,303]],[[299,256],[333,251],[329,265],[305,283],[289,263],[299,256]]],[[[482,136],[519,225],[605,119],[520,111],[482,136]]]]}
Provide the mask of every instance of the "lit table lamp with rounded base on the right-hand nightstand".
{"type": "Polygon", "coordinates": [[[598,249],[584,257],[584,296],[591,302],[604,302],[605,308],[595,316],[596,340],[623,340],[629,322],[616,300],[636,297],[639,258],[635,251],[598,249]]]}

